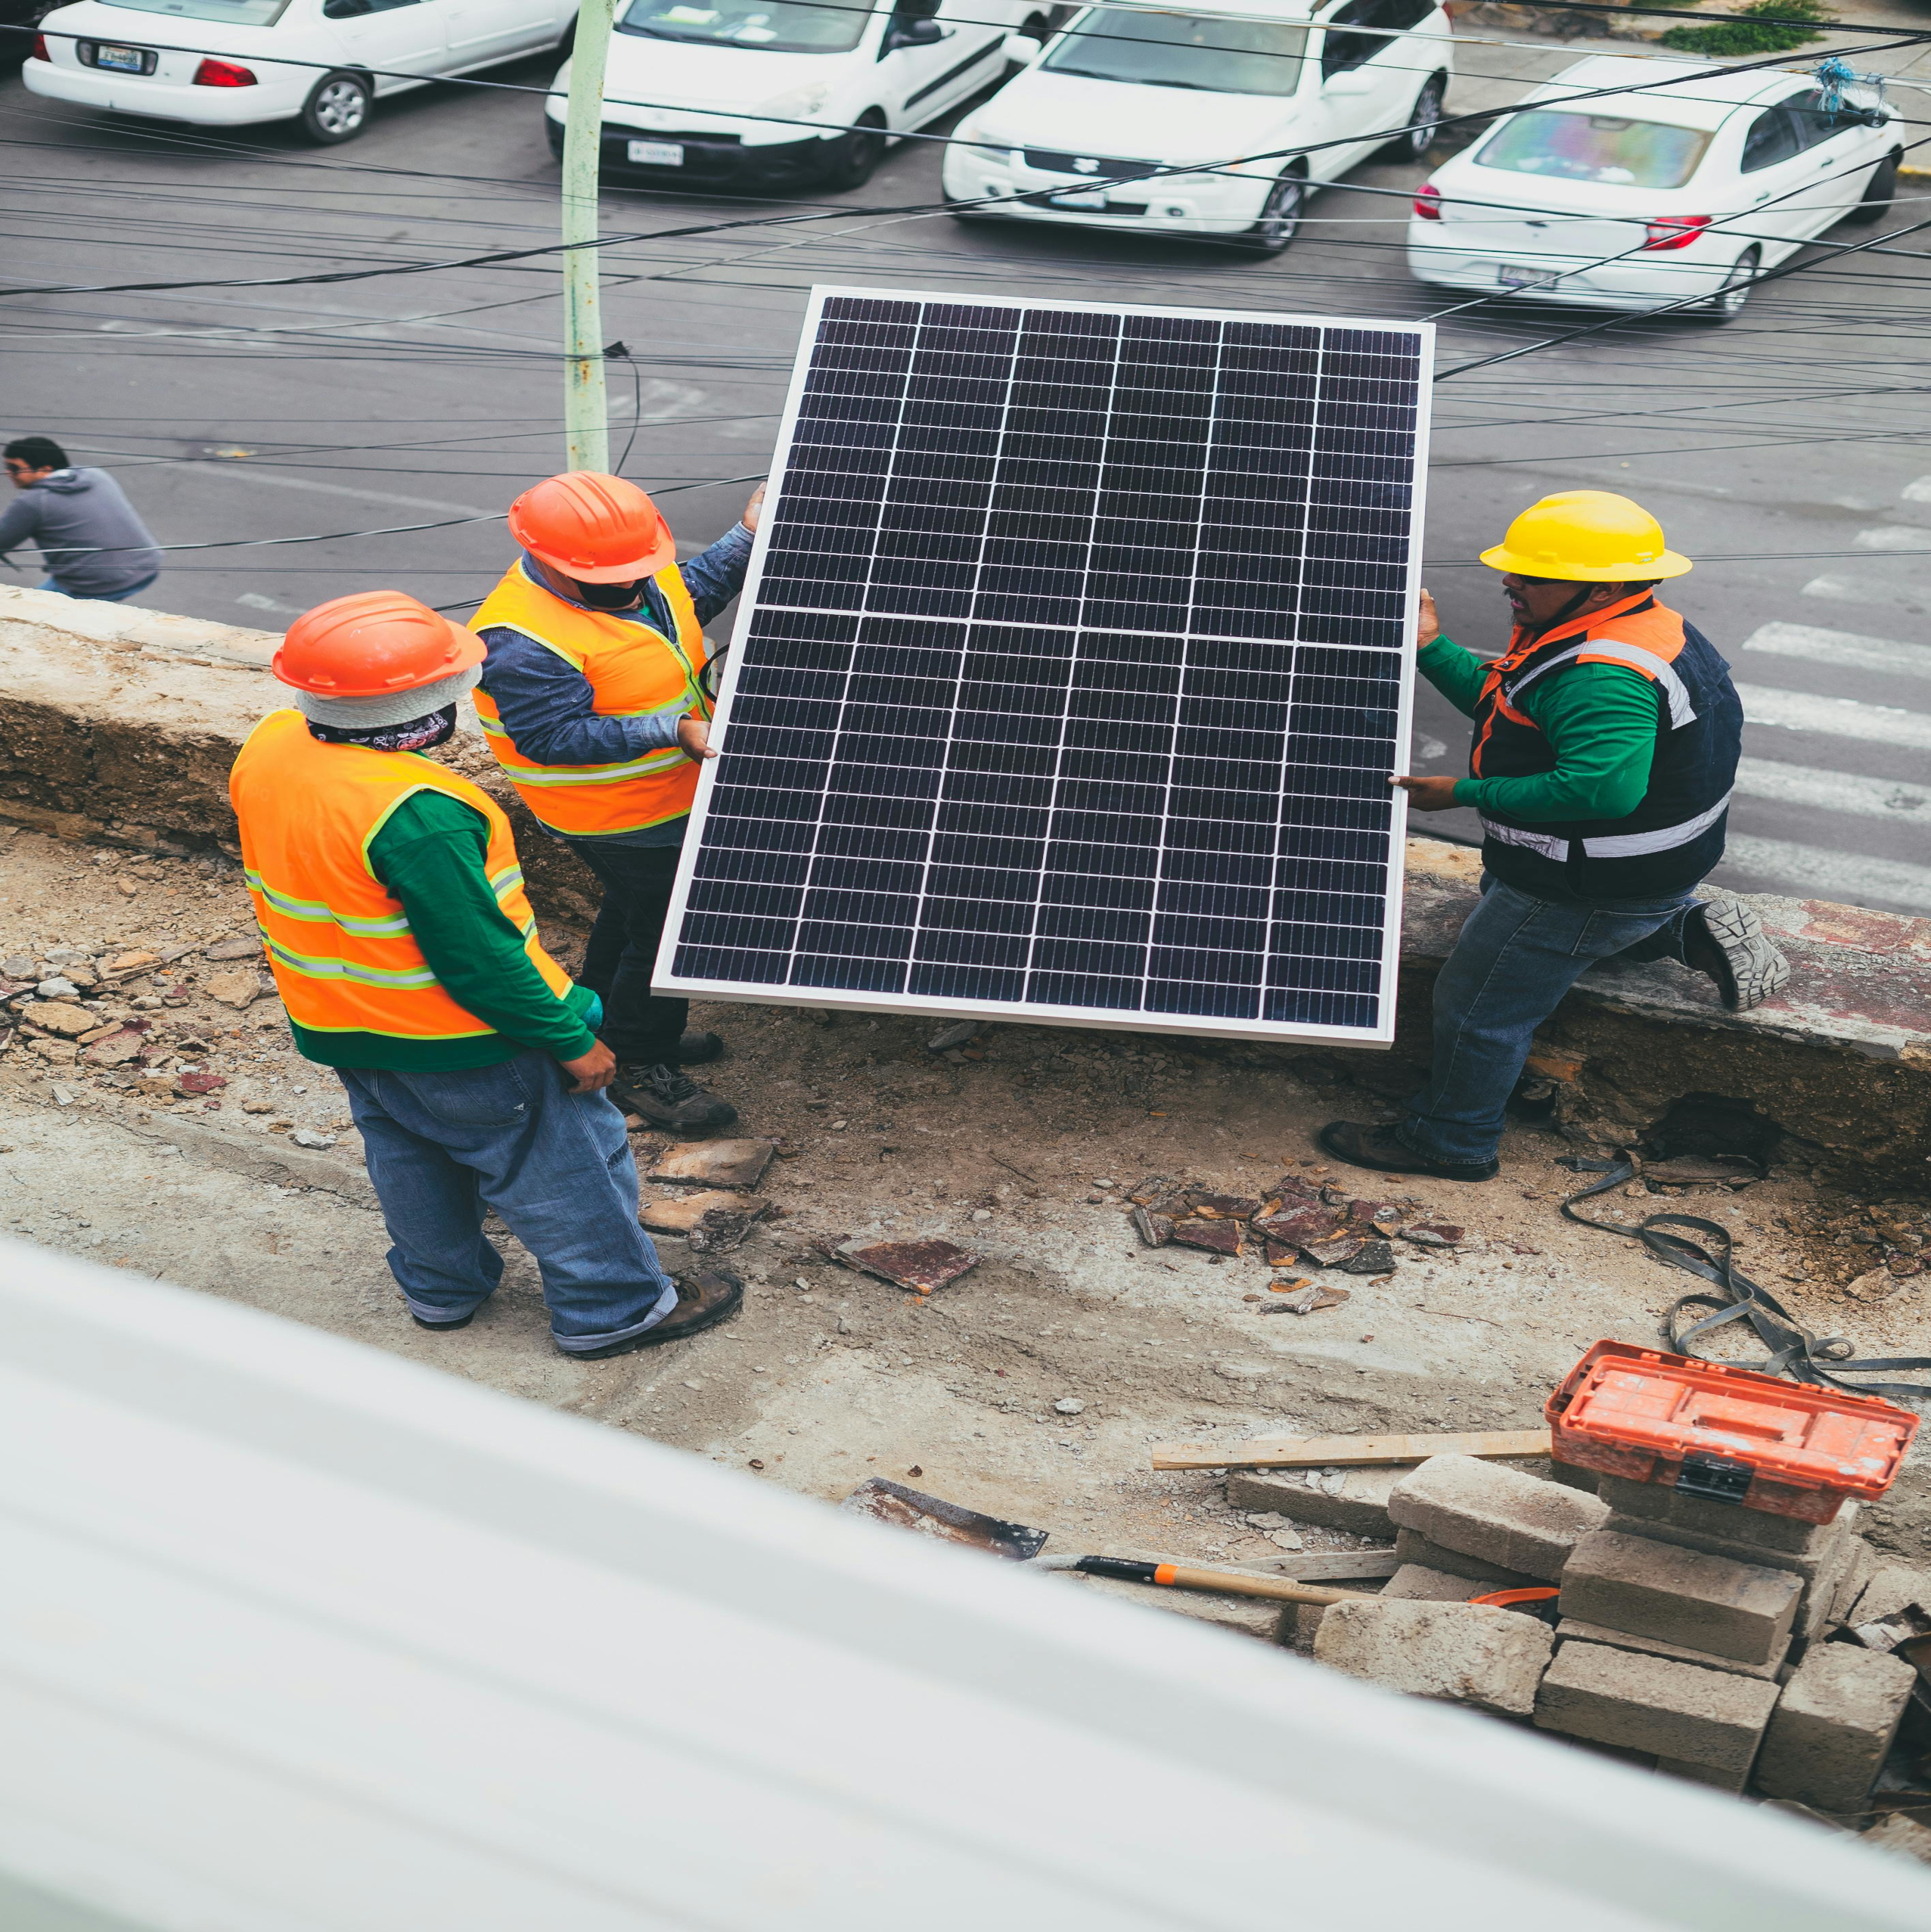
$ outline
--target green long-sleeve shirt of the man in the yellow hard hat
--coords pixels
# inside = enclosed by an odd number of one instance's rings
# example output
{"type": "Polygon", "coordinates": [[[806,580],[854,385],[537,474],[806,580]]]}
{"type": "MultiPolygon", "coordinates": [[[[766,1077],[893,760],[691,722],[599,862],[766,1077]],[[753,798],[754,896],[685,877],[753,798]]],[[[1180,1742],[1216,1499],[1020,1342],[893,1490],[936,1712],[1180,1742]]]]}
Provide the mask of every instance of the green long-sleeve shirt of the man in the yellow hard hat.
{"type": "MultiPolygon", "coordinates": [[[[1460,711],[1475,715],[1489,665],[1437,638],[1415,667],[1460,711]]],[[[1649,790],[1657,750],[1657,688],[1624,665],[1572,665],[1537,678],[1516,709],[1535,719],[1556,753],[1553,771],[1527,779],[1462,779],[1458,806],[1506,811],[1512,819],[1620,819],[1649,790]]]]}

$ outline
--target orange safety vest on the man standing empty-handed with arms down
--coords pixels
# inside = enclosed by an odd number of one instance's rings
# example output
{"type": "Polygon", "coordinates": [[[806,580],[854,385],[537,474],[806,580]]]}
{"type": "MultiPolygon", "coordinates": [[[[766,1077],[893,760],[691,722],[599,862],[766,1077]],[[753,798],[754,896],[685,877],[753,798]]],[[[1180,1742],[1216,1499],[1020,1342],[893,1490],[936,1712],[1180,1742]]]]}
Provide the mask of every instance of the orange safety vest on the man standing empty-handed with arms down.
{"type": "Polygon", "coordinates": [[[413,792],[442,792],[489,819],[489,883],[552,993],[570,974],[543,951],[502,808],[415,752],[321,744],[299,711],[270,711],[228,775],[241,866],[288,1016],[317,1034],[473,1039],[494,1034],[442,989],[407,914],[369,869],[369,840],[413,792]]]}

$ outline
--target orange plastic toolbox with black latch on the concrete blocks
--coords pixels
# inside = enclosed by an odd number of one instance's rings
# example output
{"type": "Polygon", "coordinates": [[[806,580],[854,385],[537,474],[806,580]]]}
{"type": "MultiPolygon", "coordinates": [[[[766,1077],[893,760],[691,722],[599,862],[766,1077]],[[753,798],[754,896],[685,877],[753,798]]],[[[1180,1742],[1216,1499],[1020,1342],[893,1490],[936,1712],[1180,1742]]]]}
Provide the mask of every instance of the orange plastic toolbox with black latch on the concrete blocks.
{"type": "Polygon", "coordinates": [[[1890,1488],[1917,1416],[1875,1395],[1599,1341],[1543,1405],[1558,1463],[1831,1522],[1890,1488]]]}

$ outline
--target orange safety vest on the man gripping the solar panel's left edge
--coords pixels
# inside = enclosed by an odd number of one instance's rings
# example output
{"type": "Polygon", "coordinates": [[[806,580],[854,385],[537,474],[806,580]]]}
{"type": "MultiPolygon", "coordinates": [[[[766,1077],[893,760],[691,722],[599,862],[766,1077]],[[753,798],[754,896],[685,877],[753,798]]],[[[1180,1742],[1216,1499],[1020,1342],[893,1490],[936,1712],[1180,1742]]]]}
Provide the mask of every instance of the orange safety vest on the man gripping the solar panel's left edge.
{"type": "MultiPolygon", "coordinates": [[[[668,564],[651,582],[670,603],[676,638],[635,618],[579,611],[564,603],[525,576],[521,558],[469,618],[469,628],[492,630],[502,624],[554,651],[589,680],[599,717],[687,717],[691,711],[711,717],[711,699],[699,682],[705,632],[691,607],[691,593],[676,564],[668,564]]],[[[475,705],[496,763],[550,831],[579,838],[635,833],[680,819],[691,810],[697,761],[682,746],[645,752],[643,757],[626,757],[616,765],[539,765],[518,752],[502,726],[496,699],[481,686],[475,705]]]]}

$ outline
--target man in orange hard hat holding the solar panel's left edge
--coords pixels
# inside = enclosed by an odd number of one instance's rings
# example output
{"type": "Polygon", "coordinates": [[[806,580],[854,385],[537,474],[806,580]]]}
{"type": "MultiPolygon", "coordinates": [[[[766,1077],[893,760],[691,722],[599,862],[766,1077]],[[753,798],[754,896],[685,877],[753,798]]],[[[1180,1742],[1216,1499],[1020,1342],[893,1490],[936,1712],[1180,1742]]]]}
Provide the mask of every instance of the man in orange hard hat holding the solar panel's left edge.
{"type": "Polygon", "coordinates": [[[738,1109],[684,1066],[716,1034],[686,1028],[687,1003],[651,991],[678,852],[711,750],[705,624],[743,587],[759,489],[743,520],[682,568],[651,498],[579,469],[510,504],[523,554],[469,620],[489,647],[477,717],[541,825],[602,883],[583,983],[604,1003],[616,1097],[653,1126],[722,1132],[738,1109]]]}

